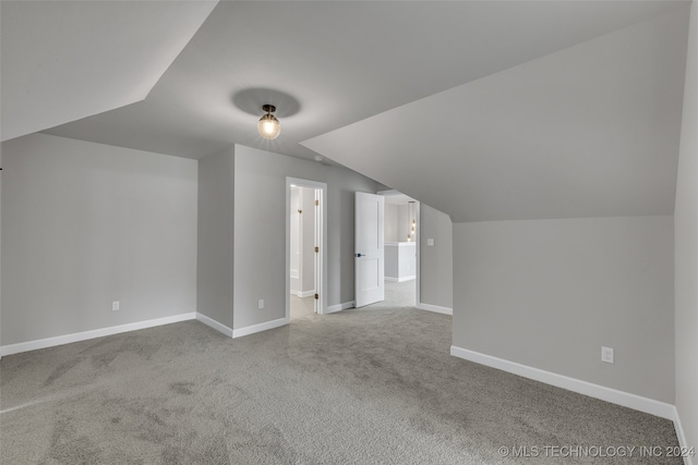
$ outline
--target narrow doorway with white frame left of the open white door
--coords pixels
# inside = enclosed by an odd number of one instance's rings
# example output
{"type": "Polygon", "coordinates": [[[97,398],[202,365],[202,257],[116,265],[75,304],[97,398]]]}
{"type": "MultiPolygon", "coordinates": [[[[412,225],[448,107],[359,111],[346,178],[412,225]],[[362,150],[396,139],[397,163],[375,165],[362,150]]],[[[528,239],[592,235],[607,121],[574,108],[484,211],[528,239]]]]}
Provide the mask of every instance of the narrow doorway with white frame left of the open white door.
{"type": "Polygon", "coordinates": [[[327,185],[286,179],[286,318],[325,313],[327,185]]]}

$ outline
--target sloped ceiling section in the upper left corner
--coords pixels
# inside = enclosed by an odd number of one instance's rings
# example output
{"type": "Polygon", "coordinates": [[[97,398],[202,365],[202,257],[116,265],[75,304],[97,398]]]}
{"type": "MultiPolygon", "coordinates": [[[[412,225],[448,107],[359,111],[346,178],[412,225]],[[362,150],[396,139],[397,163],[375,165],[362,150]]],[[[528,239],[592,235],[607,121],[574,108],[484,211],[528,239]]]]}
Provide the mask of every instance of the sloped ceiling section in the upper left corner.
{"type": "Polygon", "coordinates": [[[143,100],[216,1],[5,1],[2,140],[143,100]]]}

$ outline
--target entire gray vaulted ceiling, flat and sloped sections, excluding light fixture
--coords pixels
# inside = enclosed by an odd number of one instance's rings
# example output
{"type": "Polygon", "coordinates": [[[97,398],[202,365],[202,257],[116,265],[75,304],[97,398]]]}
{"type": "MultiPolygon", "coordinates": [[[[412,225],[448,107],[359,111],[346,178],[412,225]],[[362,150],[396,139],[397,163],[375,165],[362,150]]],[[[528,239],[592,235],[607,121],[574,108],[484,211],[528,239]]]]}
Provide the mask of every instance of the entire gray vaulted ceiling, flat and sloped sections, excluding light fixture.
{"type": "Polygon", "coordinates": [[[2,139],[322,154],[454,221],[671,215],[688,9],[2,1],[2,139]]]}

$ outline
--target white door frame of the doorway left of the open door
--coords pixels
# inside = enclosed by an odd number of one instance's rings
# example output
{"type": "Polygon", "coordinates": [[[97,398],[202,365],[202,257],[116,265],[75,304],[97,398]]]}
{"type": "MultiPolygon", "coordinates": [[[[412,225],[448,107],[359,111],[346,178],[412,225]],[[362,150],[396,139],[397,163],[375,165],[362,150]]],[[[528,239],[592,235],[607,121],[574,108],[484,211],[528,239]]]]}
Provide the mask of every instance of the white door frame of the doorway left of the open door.
{"type": "Polygon", "coordinates": [[[316,228],[320,229],[322,234],[317,237],[315,233],[315,244],[320,247],[318,260],[321,264],[321,270],[315,270],[315,292],[320,289],[320,298],[317,306],[317,314],[324,315],[327,310],[327,184],[310,180],[301,180],[298,178],[286,178],[286,319],[290,320],[291,317],[291,185],[299,187],[309,187],[320,191],[320,209],[315,215],[316,228]],[[320,241],[318,241],[320,240],[320,241]]]}

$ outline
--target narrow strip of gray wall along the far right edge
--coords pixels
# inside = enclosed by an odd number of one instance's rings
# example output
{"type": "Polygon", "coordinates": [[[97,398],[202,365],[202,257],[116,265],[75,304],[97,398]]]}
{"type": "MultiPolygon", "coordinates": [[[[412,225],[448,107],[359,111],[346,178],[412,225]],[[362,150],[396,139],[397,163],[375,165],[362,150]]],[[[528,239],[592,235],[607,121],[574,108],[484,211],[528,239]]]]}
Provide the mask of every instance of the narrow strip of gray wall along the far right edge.
{"type": "Polygon", "coordinates": [[[686,445],[698,446],[698,7],[690,12],[676,185],[676,408],[686,445]]]}

